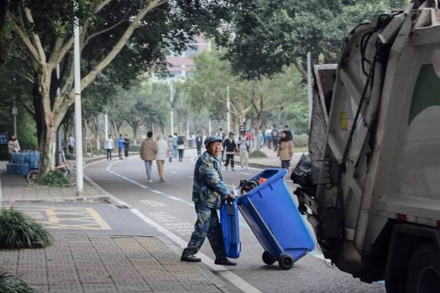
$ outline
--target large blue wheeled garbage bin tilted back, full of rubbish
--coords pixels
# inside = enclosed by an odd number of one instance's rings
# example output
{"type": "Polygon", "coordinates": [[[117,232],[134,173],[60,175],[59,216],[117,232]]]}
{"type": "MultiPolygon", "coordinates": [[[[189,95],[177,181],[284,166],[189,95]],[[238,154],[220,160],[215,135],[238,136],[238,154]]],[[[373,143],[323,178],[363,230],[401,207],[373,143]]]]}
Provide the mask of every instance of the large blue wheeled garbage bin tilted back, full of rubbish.
{"type": "MultiPolygon", "coordinates": [[[[263,261],[289,270],[316,248],[316,242],[296,207],[284,176],[285,169],[265,169],[254,178],[267,181],[237,198],[239,210],[263,246],[263,261]]],[[[252,178],[253,179],[253,178],[252,178]]]]}

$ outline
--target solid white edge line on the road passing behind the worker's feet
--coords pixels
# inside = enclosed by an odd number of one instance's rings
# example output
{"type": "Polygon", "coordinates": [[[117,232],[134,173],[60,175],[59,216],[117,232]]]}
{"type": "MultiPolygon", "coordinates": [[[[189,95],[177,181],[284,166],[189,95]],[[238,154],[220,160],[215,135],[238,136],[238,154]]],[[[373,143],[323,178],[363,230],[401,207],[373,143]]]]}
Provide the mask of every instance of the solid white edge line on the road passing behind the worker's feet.
{"type": "MultiPolygon", "coordinates": [[[[147,224],[155,227],[157,229],[157,231],[159,231],[160,233],[164,234],[169,239],[173,240],[173,242],[178,244],[181,248],[186,248],[187,243],[184,241],[184,239],[181,239],[177,235],[175,235],[175,234],[171,233],[170,231],[168,231],[166,228],[160,226],[159,224],[157,224],[156,222],[154,222],[150,218],[146,217],[146,215],[144,215],[143,213],[141,213],[137,209],[130,209],[130,211],[132,213],[134,213],[135,215],[137,215],[142,220],[144,220],[144,222],[146,222],[147,224]]],[[[221,274],[221,276],[223,278],[225,278],[228,281],[230,281],[230,283],[234,284],[237,288],[239,288],[243,292],[255,292],[255,293],[260,292],[261,293],[260,290],[256,289],[250,283],[248,283],[245,280],[241,279],[239,276],[237,276],[236,274],[234,274],[233,272],[231,272],[227,268],[225,268],[223,266],[215,265],[214,261],[212,259],[210,259],[209,257],[207,257],[206,255],[203,255],[203,253],[198,253],[197,255],[201,258],[201,261],[203,261],[203,263],[205,263],[207,266],[209,266],[212,270],[214,270],[214,271],[218,272],[219,274],[221,274]]]]}

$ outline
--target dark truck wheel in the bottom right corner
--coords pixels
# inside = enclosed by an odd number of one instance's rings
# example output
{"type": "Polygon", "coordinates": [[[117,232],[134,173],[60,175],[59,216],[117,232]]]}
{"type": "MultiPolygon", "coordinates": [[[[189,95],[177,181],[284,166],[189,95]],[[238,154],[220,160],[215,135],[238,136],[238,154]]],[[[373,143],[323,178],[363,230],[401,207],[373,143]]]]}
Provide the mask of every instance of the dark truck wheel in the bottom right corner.
{"type": "Polygon", "coordinates": [[[408,266],[406,292],[434,293],[440,288],[440,250],[432,243],[419,245],[408,266]]]}

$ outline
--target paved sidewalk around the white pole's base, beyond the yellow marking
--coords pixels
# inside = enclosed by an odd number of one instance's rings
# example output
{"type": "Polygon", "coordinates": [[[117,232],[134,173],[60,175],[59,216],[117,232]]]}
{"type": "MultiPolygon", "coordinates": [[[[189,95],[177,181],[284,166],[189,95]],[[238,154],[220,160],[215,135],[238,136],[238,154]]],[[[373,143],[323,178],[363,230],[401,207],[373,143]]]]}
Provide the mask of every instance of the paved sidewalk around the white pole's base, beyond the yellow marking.
{"type": "Polygon", "coordinates": [[[6,173],[5,161],[0,162],[1,202],[106,202],[107,195],[85,182],[83,196],[76,196],[76,187],[29,185],[24,176],[6,173]]]}

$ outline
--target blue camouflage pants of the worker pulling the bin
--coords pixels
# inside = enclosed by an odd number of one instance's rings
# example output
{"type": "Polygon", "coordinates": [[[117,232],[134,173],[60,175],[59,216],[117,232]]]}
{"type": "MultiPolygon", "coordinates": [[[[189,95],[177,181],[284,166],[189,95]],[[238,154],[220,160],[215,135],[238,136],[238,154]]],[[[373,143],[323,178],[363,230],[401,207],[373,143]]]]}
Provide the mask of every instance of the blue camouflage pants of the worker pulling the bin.
{"type": "Polygon", "coordinates": [[[195,204],[195,211],[197,213],[197,221],[195,222],[194,232],[192,232],[188,247],[184,249],[184,253],[191,255],[197,253],[208,236],[215,257],[217,259],[224,259],[226,257],[225,246],[223,244],[223,234],[221,233],[217,210],[201,204],[195,204]]]}

